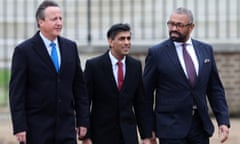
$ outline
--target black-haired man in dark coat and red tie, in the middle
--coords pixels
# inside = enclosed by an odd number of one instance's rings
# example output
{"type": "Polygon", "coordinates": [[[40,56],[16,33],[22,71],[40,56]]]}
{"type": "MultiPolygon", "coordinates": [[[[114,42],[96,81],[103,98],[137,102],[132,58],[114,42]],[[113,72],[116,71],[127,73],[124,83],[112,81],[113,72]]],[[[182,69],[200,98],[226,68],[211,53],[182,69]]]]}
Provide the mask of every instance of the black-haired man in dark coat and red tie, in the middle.
{"type": "MultiPolygon", "coordinates": [[[[107,32],[109,50],[87,60],[85,78],[91,105],[90,130],[84,144],[138,144],[137,126],[143,143],[145,106],[140,61],[128,56],[131,31],[128,24],[115,24],[107,32]]],[[[145,139],[146,138],[146,139],[145,139]]]]}

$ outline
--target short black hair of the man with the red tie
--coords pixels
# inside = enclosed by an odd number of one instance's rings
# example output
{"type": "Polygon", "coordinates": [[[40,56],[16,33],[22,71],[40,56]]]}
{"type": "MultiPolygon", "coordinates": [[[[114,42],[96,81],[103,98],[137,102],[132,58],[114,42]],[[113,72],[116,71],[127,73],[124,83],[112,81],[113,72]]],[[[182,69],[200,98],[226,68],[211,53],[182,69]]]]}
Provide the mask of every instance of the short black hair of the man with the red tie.
{"type": "Polygon", "coordinates": [[[122,31],[130,32],[130,30],[131,28],[128,24],[123,24],[123,23],[114,24],[111,26],[111,28],[107,32],[107,38],[114,39],[119,32],[122,32],[122,31]]]}

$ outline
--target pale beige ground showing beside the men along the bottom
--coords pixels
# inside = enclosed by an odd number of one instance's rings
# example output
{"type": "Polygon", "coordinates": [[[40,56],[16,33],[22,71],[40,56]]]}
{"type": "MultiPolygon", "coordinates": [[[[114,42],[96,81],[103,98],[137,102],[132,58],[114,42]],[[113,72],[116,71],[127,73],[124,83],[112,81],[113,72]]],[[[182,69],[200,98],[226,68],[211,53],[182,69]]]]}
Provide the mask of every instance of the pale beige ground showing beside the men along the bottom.
{"type": "MultiPolygon", "coordinates": [[[[216,126],[215,120],[213,120],[213,122],[216,126]]],[[[226,144],[240,144],[239,129],[240,118],[232,118],[230,135],[226,144]]],[[[217,137],[217,130],[215,131],[214,136],[210,140],[211,144],[220,144],[217,137]]],[[[10,117],[7,113],[0,113],[0,144],[17,144],[15,137],[12,135],[10,117]]]]}

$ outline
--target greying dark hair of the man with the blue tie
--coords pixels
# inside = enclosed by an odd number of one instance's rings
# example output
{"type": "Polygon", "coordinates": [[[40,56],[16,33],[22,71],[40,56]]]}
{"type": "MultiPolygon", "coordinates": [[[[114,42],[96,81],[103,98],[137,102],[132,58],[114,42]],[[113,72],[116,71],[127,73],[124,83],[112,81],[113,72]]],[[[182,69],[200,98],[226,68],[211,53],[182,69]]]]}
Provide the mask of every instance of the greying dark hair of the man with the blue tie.
{"type": "Polygon", "coordinates": [[[45,0],[39,5],[39,7],[36,11],[36,15],[35,15],[38,27],[39,27],[38,20],[39,19],[42,19],[42,20],[45,19],[44,11],[47,7],[59,7],[59,5],[55,1],[51,1],[51,0],[45,0]]]}

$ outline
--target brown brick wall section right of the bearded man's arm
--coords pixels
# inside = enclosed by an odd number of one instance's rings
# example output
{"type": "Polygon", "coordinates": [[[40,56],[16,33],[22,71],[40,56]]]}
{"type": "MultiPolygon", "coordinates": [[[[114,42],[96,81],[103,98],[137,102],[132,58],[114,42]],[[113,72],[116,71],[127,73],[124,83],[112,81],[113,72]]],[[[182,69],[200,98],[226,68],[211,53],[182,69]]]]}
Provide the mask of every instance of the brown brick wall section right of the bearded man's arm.
{"type": "Polygon", "coordinates": [[[240,52],[216,52],[215,58],[231,115],[240,116],[240,52]]]}

